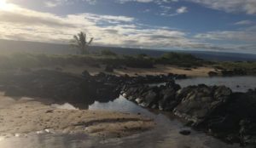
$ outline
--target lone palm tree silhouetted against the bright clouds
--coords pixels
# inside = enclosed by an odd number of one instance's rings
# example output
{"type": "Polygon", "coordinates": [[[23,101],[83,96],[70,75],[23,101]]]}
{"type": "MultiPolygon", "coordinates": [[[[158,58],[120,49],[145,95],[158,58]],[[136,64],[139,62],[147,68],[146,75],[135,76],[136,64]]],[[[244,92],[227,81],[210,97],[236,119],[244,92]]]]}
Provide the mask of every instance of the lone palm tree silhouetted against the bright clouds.
{"type": "Polygon", "coordinates": [[[90,41],[87,42],[86,33],[80,31],[78,35],[73,36],[72,46],[79,48],[80,54],[88,54],[88,47],[92,43],[93,37],[90,38],[90,41]]]}

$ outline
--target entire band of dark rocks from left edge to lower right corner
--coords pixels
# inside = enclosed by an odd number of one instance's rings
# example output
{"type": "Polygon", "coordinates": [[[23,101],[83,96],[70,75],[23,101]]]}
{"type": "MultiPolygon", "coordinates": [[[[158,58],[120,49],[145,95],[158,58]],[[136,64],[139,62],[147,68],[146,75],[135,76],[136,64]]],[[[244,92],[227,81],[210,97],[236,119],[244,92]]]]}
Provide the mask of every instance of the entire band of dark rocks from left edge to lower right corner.
{"type": "Polygon", "coordinates": [[[52,98],[86,108],[95,100],[108,102],[119,94],[143,107],[172,111],[188,125],[227,142],[256,145],[256,89],[234,93],[224,86],[181,88],[175,79],[184,75],[118,77],[99,73],[82,77],[60,71],[1,74],[0,90],[9,96],[52,98]],[[149,83],[166,83],[151,86],[149,83]],[[83,106],[86,104],[85,106],[83,106]]]}

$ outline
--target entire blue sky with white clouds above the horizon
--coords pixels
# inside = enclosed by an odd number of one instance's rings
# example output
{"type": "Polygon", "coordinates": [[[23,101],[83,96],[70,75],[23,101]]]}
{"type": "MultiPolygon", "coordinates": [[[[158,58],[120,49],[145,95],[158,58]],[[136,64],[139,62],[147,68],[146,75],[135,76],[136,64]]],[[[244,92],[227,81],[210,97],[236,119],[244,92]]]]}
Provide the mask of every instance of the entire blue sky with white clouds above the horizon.
{"type": "Polygon", "coordinates": [[[0,0],[0,38],[256,54],[256,0],[0,0]]]}

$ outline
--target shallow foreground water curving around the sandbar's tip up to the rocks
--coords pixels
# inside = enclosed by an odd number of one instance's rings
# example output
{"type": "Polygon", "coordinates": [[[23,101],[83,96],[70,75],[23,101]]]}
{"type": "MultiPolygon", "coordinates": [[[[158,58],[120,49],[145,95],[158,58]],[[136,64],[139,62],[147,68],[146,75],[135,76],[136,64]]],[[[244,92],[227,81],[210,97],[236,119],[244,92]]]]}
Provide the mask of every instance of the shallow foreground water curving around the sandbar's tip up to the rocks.
{"type": "MultiPolygon", "coordinates": [[[[67,107],[67,106],[66,106],[67,107]]],[[[0,135],[0,147],[4,148],[235,148],[239,145],[227,145],[213,137],[183,125],[172,114],[161,111],[148,111],[123,97],[108,103],[96,102],[90,110],[125,111],[154,119],[157,122],[152,130],[125,137],[105,138],[87,134],[15,134],[4,138],[0,135]],[[191,135],[179,134],[183,129],[190,130],[191,135]]],[[[50,130],[49,130],[50,131],[50,130]]],[[[43,131],[44,132],[44,131],[43,131]]]]}

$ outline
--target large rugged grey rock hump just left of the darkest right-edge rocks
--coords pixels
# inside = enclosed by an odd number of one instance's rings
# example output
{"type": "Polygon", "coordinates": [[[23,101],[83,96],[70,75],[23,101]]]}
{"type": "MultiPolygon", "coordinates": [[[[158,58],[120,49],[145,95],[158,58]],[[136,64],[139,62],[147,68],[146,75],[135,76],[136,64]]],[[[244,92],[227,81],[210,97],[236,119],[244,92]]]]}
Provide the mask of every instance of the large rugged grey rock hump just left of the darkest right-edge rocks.
{"type": "Polygon", "coordinates": [[[231,94],[230,88],[224,86],[198,85],[183,88],[177,92],[177,99],[182,101],[173,112],[178,117],[198,125],[225,105],[231,94]]]}

